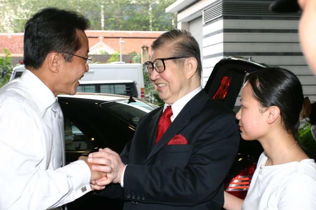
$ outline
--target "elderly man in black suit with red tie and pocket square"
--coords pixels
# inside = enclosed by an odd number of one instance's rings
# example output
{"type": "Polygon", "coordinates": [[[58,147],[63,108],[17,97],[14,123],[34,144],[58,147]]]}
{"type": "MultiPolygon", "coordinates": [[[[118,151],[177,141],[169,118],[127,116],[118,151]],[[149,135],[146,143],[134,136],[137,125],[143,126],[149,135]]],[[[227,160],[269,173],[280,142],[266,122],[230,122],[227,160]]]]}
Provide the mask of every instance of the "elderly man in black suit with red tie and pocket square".
{"type": "Polygon", "coordinates": [[[165,105],[139,120],[120,156],[108,148],[89,154],[104,165],[93,170],[107,172],[92,187],[124,199],[124,209],[221,209],[240,138],[234,113],[202,89],[190,33],[170,30],[151,47],[144,67],[165,105]]]}

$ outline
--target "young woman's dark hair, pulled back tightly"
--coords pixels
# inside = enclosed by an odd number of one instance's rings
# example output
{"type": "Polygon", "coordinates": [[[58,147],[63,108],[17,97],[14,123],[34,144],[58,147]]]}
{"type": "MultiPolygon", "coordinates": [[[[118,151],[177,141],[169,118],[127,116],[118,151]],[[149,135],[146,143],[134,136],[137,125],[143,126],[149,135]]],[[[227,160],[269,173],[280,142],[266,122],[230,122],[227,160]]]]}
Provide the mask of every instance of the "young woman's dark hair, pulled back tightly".
{"type": "Polygon", "coordinates": [[[262,107],[277,106],[285,129],[297,135],[304,96],[300,80],[289,70],[270,67],[246,77],[262,107]]]}

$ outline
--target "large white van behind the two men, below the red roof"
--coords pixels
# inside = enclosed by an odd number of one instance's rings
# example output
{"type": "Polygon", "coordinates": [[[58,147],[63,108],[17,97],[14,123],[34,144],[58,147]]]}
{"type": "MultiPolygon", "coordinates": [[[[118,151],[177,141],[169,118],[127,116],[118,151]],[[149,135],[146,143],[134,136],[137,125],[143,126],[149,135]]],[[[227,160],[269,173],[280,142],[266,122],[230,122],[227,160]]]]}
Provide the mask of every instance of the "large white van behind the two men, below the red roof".
{"type": "MultiPolygon", "coordinates": [[[[10,80],[20,77],[24,69],[24,65],[14,67],[10,80]]],[[[122,80],[132,80],[132,82],[136,85],[137,89],[137,94],[133,94],[133,97],[141,99],[145,98],[143,65],[140,63],[89,64],[89,71],[84,74],[84,77],[82,77],[79,83],[83,84],[83,81],[89,81],[88,83],[91,83],[91,81],[100,80],[119,80],[117,81],[118,84],[121,84],[122,80]]],[[[111,84],[114,83],[115,82],[112,82],[111,84]]]]}

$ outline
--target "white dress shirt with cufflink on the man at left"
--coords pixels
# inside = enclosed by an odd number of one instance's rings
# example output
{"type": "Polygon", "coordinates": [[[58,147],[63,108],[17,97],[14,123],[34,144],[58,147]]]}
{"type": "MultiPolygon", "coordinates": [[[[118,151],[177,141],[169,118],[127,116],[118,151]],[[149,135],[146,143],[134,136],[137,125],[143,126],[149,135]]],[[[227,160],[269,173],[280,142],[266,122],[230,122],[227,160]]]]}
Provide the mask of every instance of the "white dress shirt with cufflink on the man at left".
{"type": "Polygon", "coordinates": [[[52,91],[28,70],[0,89],[1,210],[54,208],[91,190],[84,161],[59,168],[54,164],[54,150],[63,153],[53,148],[55,101],[52,91]]]}

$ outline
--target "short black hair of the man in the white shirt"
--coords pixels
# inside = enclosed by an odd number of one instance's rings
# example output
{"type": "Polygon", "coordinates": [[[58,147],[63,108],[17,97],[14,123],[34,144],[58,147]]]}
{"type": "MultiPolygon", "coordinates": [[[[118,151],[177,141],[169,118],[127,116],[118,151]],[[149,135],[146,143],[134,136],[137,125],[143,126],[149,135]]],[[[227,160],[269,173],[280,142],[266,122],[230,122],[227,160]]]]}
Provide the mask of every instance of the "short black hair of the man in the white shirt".
{"type": "MultiPolygon", "coordinates": [[[[39,69],[53,51],[75,53],[81,48],[77,30],[90,26],[82,15],[56,8],[40,10],[27,20],[24,31],[24,60],[26,67],[39,69]]],[[[63,54],[67,62],[72,55],[63,54]]]]}

